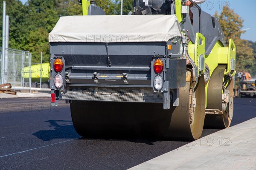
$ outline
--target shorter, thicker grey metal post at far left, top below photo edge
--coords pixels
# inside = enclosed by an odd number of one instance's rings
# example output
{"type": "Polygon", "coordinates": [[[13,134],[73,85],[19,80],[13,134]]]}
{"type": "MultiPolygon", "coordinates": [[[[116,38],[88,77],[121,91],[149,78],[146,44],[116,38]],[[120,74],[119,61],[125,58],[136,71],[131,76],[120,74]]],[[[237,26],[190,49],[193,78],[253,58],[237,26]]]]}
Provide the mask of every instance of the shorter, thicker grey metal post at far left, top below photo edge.
{"type": "MultiPolygon", "coordinates": [[[[9,66],[9,55],[8,55],[8,49],[9,48],[9,16],[6,15],[6,24],[5,24],[5,57],[4,57],[4,69],[9,71],[8,66],[9,66]]],[[[9,81],[9,76],[4,77],[4,82],[9,81]]]]}

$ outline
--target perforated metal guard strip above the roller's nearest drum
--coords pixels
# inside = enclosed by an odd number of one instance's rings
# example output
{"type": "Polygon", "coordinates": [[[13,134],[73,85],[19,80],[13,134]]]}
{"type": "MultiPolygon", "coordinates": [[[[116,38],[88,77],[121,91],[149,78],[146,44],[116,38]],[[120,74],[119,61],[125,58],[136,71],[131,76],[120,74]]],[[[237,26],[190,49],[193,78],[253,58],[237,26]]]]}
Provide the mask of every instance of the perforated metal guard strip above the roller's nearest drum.
{"type": "Polygon", "coordinates": [[[61,91],[60,99],[163,103],[163,93],[155,93],[152,88],[69,87],[61,91]]]}

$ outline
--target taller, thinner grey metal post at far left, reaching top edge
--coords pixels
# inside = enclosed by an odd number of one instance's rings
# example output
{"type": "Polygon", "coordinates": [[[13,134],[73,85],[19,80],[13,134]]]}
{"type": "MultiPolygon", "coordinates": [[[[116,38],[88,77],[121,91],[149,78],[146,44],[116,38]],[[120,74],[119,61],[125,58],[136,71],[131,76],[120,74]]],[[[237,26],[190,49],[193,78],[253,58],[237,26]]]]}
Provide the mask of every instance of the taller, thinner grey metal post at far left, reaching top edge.
{"type": "Polygon", "coordinates": [[[5,24],[6,24],[6,1],[3,1],[3,26],[2,26],[2,63],[1,63],[1,84],[4,84],[4,58],[5,58],[5,24]]]}

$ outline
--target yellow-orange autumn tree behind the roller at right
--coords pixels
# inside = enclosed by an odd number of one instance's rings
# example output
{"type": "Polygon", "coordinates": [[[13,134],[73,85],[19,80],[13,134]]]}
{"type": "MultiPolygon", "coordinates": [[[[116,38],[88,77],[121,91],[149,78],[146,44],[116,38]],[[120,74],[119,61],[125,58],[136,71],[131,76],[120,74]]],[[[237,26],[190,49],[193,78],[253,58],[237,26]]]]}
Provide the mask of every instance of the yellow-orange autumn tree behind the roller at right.
{"type": "Polygon", "coordinates": [[[247,70],[251,74],[255,74],[252,72],[256,65],[256,59],[253,57],[253,48],[250,47],[250,42],[240,38],[241,34],[245,32],[242,31],[244,20],[228,6],[223,7],[220,15],[215,12],[215,17],[224,32],[226,44],[228,44],[230,38],[236,44],[236,71],[247,70]]]}

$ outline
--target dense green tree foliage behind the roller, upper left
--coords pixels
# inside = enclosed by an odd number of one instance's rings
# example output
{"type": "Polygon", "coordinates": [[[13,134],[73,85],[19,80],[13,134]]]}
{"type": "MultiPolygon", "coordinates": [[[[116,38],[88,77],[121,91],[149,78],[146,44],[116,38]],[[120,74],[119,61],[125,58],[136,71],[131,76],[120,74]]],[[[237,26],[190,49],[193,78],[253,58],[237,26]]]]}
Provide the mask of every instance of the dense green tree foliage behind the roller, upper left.
{"type": "MultiPolygon", "coordinates": [[[[43,51],[43,61],[49,62],[49,32],[59,17],[82,15],[82,7],[77,0],[28,0],[23,3],[19,0],[6,0],[6,14],[10,17],[9,48],[30,51],[32,62],[40,62],[43,51]]],[[[103,8],[107,15],[120,14],[120,3],[121,0],[97,0],[97,5],[103,8]]],[[[2,26],[2,3],[0,6],[2,26]]],[[[124,0],[123,14],[132,10],[133,0],[124,0]]]]}

